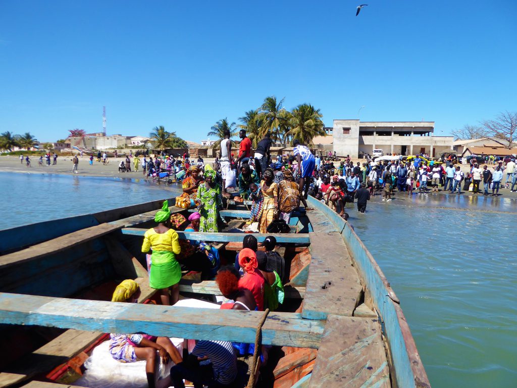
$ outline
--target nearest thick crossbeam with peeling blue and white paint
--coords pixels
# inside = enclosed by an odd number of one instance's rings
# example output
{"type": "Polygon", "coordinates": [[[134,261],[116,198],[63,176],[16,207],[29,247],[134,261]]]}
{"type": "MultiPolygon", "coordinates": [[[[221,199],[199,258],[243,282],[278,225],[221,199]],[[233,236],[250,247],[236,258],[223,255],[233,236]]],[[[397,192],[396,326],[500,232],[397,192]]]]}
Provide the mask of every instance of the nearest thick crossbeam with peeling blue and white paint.
{"type": "MultiPolygon", "coordinates": [[[[253,343],[262,311],[139,305],[0,293],[0,323],[103,333],[152,333],[191,339],[253,343]]],[[[317,348],[324,322],[286,312],[269,314],[264,345],[317,348]]]]}

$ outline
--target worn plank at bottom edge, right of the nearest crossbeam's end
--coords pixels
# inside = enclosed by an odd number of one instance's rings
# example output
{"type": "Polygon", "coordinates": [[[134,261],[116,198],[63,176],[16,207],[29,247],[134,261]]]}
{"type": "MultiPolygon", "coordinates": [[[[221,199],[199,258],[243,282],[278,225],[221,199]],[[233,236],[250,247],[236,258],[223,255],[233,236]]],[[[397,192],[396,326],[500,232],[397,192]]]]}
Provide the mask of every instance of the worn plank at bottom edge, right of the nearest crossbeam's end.
{"type": "Polygon", "coordinates": [[[376,319],[329,315],[309,387],[390,387],[376,319]]]}

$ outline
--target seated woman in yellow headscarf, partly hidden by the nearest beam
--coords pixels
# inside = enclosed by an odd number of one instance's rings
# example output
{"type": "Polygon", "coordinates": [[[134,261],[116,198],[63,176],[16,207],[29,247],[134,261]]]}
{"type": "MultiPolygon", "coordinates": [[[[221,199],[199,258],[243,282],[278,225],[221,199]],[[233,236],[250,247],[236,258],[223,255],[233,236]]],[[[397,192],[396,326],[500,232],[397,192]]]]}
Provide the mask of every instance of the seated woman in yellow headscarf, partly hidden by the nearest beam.
{"type": "MultiPolygon", "coordinates": [[[[140,287],[134,280],[121,282],[113,292],[112,302],[138,302],[140,287]]],[[[172,360],[175,364],[181,361],[178,349],[167,337],[154,337],[147,334],[110,334],[110,354],[120,362],[131,363],[145,360],[145,372],[150,388],[155,387],[155,364],[158,351],[163,364],[172,360]]]]}

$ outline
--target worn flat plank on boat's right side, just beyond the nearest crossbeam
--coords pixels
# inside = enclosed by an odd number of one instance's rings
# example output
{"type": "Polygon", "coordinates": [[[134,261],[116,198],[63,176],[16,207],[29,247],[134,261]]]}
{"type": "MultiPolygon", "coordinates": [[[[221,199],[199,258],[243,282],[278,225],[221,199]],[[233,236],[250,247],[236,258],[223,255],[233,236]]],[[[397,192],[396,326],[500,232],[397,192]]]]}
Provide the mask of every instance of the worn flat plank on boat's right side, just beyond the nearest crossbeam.
{"type": "Polygon", "coordinates": [[[352,316],[362,286],[340,233],[309,233],[311,264],[302,317],[352,316]]]}

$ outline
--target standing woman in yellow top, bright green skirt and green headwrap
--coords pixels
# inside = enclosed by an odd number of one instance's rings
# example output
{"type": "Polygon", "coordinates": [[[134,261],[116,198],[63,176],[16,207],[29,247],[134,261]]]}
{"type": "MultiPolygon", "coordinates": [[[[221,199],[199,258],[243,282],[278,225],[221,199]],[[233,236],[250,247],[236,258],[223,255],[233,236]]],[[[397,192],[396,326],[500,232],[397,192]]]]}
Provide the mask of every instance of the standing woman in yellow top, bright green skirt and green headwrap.
{"type": "Polygon", "coordinates": [[[163,202],[162,210],[156,213],[155,221],[158,226],[151,228],[144,234],[142,252],[153,250],[151,255],[151,270],[149,273],[149,286],[160,290],[160,299],[163,305],[175,304],[179,299],[179,279],[181,268],[176,261],[179,254],[179,237],[174,229],[171,229],[171,212],[169,201],[163,202]],[[169,298],[169,289],[172,299],[169,298]]]}

